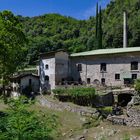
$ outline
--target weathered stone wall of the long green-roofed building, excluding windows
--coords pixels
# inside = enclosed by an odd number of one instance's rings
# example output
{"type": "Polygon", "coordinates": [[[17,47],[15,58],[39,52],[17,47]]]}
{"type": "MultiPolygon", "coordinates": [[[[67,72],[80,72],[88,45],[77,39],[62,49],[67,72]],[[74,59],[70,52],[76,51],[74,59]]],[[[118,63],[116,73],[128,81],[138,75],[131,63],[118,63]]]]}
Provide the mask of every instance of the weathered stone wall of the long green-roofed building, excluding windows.
{"type": "Polygon", "coordinates": [[[87,57],[72,57],[71,58],[71,75],[74,80],[79,78],[82,81],[91,79],[91,83],[95,79],[101,82],[101,78],[105,78],[105,83],[108,86],[122,86],[124,78],[131,78],[132,74],[137,74],[140,78],[140,54],[120,54],[120,55],[107,55],[107,56],[87,56],[87,57]],[[138,70],[131,70],[131,62],[138,61],[138,70]],[[77,71],[77,64],[82,64],[82,71],[77,71]],[[107,71],[100,72],[100,64],[107,64],[107,71]],[[120,74],[120,80],[115,80],[115,74],[120,74]]]}

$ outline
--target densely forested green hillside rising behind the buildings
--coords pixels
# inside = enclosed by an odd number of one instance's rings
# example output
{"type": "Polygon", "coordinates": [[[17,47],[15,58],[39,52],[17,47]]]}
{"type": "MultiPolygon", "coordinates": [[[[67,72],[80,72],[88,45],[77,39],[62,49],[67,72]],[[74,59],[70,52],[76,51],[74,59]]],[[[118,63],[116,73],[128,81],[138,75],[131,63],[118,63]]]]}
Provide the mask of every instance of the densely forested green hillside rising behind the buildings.
{"type": "MultiPolygon", "coordinates": [[[[103,48],[122,47],[124,10],[128,13],[128,46],[140,46],[140,0],[112,0],[102,10],[103,48]]],[[[66,49],[72,53],[98,49],[95,17],[77,20],[59,14],[45,14],[19,18],[29,40],[29,64],[37,59],[40,52],[66,49]]]]}

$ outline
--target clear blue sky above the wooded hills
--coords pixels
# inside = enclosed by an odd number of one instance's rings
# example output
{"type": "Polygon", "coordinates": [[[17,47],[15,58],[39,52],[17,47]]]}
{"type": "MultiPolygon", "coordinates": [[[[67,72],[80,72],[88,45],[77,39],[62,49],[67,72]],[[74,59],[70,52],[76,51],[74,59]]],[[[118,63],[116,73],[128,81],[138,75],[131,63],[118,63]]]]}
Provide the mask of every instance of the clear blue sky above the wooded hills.
{"type": "Polygon", "coordinates": [[[105,8],[110,0],[0,0],[0,11],[10,10],[15,15],[39,16],[59,13],[77,19],[88,19],[96,13],[96,3],[105,8]]]}

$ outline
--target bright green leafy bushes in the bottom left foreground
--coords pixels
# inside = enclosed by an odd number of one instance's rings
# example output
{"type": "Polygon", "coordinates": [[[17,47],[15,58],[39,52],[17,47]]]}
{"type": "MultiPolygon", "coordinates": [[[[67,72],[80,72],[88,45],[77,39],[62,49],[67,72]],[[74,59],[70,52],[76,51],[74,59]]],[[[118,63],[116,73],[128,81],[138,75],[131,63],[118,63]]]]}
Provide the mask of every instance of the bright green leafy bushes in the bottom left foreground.
{"type": "Polygon", "coordinates": [[[47,121],[44,121],[40,114],[29,111],[30,103],[23,97],[10,100],[9,109],[0,112],[1,140],[52,140],[50,135],[57,124],[55,117],[46,116],[47,121]]]}

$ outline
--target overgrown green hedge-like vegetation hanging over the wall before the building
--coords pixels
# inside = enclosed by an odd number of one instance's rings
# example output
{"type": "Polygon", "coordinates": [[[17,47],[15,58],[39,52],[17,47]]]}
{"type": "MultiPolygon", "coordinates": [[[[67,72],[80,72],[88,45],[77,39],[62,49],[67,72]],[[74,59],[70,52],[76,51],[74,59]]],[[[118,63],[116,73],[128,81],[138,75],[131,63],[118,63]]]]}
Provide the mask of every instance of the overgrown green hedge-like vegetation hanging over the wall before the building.
{"type": "Polygon", "coordinates": [[[92,105],[93,99],[97,96],[95,89],[91,87],[57,88],[53,93],[61,101],[72,101],[79,105],[92,105]]]}

